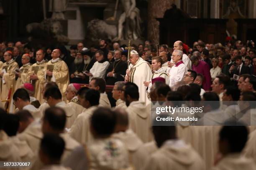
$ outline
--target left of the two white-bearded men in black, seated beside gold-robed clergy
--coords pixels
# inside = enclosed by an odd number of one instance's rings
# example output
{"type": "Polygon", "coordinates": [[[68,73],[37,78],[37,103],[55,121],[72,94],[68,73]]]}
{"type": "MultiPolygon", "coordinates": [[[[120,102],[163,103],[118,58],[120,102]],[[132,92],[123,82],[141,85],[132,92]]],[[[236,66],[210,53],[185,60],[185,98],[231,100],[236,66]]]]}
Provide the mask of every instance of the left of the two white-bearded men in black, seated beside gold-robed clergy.
{"type": "Polygon", "coordinates": [[[82,73],[84,70],[84,59],[81,52],[77,52],[77,55],[74,59],[74,62],[69,67],[69,75],[71,83],[83,83],[82,77],[79,77],[78,74],[82,73]]]}

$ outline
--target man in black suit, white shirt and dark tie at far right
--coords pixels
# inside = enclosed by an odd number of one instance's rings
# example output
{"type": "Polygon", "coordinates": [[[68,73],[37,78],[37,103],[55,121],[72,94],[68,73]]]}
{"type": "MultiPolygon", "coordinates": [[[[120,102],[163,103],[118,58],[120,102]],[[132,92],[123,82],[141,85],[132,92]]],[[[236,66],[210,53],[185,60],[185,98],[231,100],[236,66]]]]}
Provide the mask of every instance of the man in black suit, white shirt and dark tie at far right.
{"type": "Polygon", "coordinates": [[[236,66],[232,65],[229,69],[231,77],[233,77],[234,74],[236,75],[251,74],[250,68],[245,64],[243,64],[241,55],[237,55],[235,58],[235,61],[236,61],[236,66]]]}

